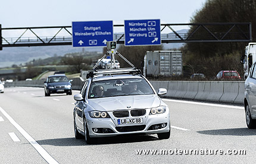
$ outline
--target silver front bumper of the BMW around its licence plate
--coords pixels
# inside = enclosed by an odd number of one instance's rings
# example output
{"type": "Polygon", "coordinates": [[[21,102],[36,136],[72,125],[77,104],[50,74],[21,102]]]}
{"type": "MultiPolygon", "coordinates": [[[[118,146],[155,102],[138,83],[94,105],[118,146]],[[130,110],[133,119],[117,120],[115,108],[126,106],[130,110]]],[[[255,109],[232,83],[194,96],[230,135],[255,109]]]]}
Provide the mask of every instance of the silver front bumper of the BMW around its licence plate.
{"type": "Polygon", "coordinates": [[[169,110],[156,115],[149,115],[149,111],[147,111],[143,116],[129,116],[127,118],[143,118],[143,123],[127,125],[118,125],[117,123],[118,119],[124,118],[115,118],[112,112],[108,112],[108,114],[111,118],[91,118],[89,113],[85,113],[90,137],[113,137],[122,134],[157,134],[170,131],[169,110]],[[164,128],[155,128],[155,126],[161,124],[166,126],[164,128]],[[99,131],[95,133],[93,131],[94,128],[99,131]],[[102,133],[102,130],[106,130],[106,132],[102,133]]]}

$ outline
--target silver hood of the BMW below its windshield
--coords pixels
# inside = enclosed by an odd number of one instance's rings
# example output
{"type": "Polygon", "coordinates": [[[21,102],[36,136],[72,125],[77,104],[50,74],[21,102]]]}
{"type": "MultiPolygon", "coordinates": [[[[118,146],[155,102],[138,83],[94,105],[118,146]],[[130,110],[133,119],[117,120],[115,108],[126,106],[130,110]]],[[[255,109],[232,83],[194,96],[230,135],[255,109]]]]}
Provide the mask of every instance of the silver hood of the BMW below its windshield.
{"type": "Polygon", "coordinates": [[[154,108],[161,100],[155,94],[136,96],[117,96],[89,99],[88,104],[97,111],[115,111],[117,109],[154,108]],[[130,106],[130,108],[127,108],[130,106]]]}

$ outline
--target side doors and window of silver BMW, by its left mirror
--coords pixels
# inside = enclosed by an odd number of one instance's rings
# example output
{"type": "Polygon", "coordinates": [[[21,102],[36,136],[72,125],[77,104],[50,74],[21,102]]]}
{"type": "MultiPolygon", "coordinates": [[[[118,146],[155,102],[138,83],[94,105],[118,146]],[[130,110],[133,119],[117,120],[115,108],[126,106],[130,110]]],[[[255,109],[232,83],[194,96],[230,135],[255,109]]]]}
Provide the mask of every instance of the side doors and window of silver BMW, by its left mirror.
{"type": "MultiPolygon", "coordinates": [[[[83,88],[80,92],[80,94],[83,95],[83,98],[86,97],[86,90],[88,88],[88,81],[85,81],[85,84],[83,85],[83,88]]],[[[76,125],[80,130],[83,130],[83,111],[86,108],[85,101],[78,101],[76,103],[76,125]]]]}

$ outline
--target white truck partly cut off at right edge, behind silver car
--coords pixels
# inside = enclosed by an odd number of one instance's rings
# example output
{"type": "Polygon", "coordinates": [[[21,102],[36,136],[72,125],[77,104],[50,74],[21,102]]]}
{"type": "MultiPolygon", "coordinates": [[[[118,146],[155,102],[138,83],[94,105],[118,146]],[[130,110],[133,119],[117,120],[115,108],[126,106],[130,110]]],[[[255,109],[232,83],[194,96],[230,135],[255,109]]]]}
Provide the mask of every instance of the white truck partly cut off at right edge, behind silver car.
{"type": "Polygon", "coordinates": [[[256,62],[256,43],[249,43],[245,47],[245,55],[241,57],[241,63],[243,64],[244,78],[248,77],[249,69],[252,64],[256,62]]]}

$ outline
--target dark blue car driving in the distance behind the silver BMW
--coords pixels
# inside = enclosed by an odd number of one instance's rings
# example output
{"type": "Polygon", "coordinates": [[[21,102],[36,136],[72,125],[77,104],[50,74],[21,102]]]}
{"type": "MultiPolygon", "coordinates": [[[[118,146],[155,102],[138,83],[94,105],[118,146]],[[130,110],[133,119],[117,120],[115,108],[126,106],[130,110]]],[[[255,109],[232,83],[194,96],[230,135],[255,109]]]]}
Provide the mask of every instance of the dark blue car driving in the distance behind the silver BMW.
{"type": "Polygon", "coordinates": [[[51,93],[66,93],[72,95],[73,80],[69,80],[65,75],[50,75],[44,82],[45,96],[51,96],[51,93]]]}

